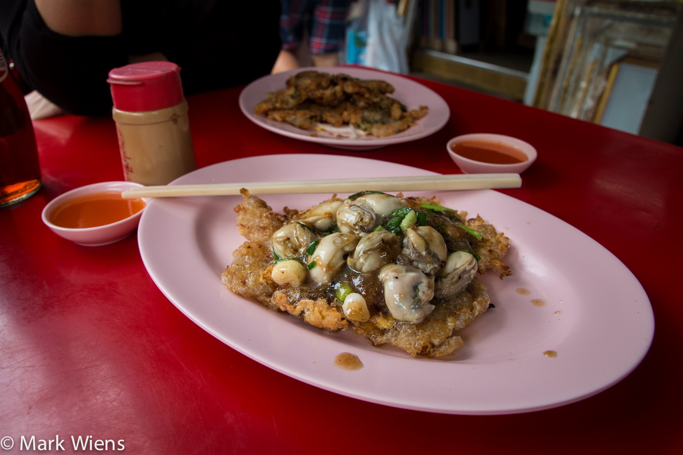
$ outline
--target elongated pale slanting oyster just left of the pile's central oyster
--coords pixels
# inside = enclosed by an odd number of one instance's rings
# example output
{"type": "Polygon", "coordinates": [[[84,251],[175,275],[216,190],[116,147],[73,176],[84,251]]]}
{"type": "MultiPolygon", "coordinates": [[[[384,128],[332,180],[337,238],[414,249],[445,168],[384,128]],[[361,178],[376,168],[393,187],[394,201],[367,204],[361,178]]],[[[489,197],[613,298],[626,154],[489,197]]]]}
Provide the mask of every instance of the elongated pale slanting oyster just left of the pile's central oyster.
{"type": "Polygon", "coordinates": [[[316,263],[309,269],[311,278],[318,283],[329,284],[339,268],[344,265],[344,256],[356,248],[360,239],[360,236],[343,232],[335,232],[321,238],[316,251],[313,251],[308,261],[309,264],[316,263]]]}

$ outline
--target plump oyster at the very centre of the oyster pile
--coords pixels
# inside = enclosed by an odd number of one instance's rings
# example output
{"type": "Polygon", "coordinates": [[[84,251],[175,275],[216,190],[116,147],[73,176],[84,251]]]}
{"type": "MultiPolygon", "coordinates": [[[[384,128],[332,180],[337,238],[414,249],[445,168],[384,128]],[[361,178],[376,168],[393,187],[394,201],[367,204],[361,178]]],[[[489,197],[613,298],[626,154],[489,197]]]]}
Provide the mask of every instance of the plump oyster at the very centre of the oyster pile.
{"type": "Polygon", "coordinates": [[[371,272],[389,262],[394,262],[401,253],[401,240],[389,231],[370,232],[361,238],[348,258],[348,266],[357,272],[371,272]]]}

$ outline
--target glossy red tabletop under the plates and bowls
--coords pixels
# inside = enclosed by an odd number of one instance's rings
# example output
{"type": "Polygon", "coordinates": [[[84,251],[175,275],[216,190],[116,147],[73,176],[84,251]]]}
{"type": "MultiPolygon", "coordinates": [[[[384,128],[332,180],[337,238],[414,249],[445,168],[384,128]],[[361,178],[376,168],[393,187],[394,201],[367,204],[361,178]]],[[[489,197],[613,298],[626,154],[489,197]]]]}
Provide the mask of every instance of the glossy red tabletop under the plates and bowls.
{"type": "Polygon", "coordinates": [[[538,161],[522,174],[521,188],[500,191],[597,240],[650,298],[654,341],[632,374],[556,409],[467,416],[372,404],[270,370],[176,309],[145,270],[135,236],[82,247],[43,225],[41,210],[57,195],[123,180],[113,120],[65,115],[34,122],[42,190],[0,210],[0,439],[14,440],[7,452],[34,436],[37,444],[66,439],[69,453],[71,436],[92,436],[123,440],[131,454],[683,453],[675,266],[683,253],[683,149],[420,82],[448,103],[447,125],[425,139],[364,152],[260,128],[238,109],[242,87],[190,96],[198,165],[315,153],[459,174],[445,152],[451,137],[501,133],[529,141],[538,161]]]}

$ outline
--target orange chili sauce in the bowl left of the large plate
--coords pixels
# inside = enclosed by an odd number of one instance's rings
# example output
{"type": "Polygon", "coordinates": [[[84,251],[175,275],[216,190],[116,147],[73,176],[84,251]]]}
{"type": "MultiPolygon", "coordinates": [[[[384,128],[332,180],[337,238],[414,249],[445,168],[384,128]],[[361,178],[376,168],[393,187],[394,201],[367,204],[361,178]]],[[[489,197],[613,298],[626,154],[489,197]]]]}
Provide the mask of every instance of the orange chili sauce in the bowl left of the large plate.
{"type": "Polygon", "coordinates": [[[64,202],[50,221],[62,228],[94,228],[126,219],[144,206],[142,199],[123,199],[121,193],[93,193],[64,202]]]}

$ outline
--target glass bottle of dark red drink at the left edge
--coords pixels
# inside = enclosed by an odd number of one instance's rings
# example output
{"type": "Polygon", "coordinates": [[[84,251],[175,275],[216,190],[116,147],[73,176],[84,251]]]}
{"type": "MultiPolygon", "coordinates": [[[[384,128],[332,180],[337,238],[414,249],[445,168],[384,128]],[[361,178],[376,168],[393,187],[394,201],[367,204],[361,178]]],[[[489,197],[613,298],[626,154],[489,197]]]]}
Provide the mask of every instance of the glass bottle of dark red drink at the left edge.
{"type": "Polygon", "coordinates": [[[24,94],[0,52],[0,207],[40,189],[36,136],[24,94]]]}

